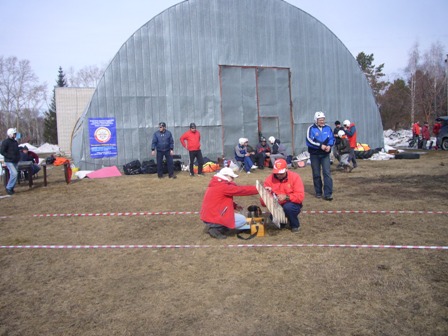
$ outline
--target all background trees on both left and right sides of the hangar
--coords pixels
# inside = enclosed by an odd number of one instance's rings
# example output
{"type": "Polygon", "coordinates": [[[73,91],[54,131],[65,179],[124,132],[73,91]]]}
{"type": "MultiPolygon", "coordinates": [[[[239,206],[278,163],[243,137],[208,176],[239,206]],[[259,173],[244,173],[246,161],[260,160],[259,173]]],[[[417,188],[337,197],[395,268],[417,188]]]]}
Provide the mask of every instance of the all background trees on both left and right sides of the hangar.
{"type": "MultiPolygon", "coordinates": [[[[446,55],[448,58],[448,55],[446,55]]],[[[386,81],[384,63],[376,66],[373,54],[360,52],[356,60],[372,88],[384,129],[409,129],[415,121],[432,124],[438,116],[448,115],[448,83],[445,50],[433,43],[421,52],[416,43],[409,52],[401,77],[386,81]]],[[[57,87],[96,87],[104,68],[86,66],[68,75],[59,67],[57,87]]],[[[47,85],[39,83],[28,60],[0,56],[0,134],[15,127],[22,142],[40,145],[57,143],[55,93],[47,103],[47,85]]]]}

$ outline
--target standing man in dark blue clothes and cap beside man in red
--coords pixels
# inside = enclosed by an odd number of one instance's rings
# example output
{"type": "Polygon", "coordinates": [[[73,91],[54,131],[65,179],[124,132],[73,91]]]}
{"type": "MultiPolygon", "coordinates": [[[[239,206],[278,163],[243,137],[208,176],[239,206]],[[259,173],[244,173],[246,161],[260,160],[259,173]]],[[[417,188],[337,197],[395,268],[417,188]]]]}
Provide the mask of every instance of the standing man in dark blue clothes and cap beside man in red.
{"type": "Polygon", "coordinates": [[[152,137],[151,155],[156,155],[157,151],[157,176],[163,178],[163,158],[165,157],[168,166],[169,178],[175,179],[174,175],[174,140],[171,132],[166,129],[166,123],[159,123],[159,130],[152,137]]]}

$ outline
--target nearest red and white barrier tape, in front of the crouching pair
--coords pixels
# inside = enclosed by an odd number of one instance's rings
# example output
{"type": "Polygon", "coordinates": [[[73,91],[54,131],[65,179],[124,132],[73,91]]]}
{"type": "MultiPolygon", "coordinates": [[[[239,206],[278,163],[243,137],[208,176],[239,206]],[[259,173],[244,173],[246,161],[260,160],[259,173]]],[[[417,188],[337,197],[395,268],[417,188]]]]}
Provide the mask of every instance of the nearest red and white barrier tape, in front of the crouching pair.
{"type": "Polygon", "coordinates": [[[230,244],[230,245],[9,245],[0,249],[186,249],[186,248],[253,248],[253,247],[330,247],[365,249],[448,250],[448,246],[367,245],[367,244],[230,244]]]}

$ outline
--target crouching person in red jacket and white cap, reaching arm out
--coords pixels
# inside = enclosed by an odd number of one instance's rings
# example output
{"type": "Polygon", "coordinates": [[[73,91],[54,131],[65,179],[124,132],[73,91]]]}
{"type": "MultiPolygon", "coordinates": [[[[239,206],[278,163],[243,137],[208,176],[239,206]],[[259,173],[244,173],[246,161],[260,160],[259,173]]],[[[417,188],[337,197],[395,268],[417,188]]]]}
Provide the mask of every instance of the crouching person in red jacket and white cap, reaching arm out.
{"type": "Polygon", "coordinates": [[[246,217],[235,213],[235,209],[242,210],[242,207],[233,202],[233,196],[258,195],[258,191],[255,186],[236,185],[233,181],[237,177],[231,168],[222,168],[205,191],[200,216],[213,238],[226,239],[223,233],[228,229],[250,229],[246,217]]]}

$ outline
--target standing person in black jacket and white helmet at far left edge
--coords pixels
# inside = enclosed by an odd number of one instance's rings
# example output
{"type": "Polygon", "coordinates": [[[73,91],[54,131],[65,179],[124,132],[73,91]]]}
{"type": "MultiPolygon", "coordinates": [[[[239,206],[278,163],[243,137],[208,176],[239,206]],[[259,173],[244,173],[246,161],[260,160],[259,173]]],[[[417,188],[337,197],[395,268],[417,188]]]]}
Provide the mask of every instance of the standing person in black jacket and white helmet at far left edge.
{"type": "Polygon", "coordinates": [[[5,165],[9,170],[9,181],[6,185],[6,193],[12,195],[14,194],[14,187],[17,183],[20,150],[19,143],[16,140],[17,130],[15,128],[10,128],[6,134],[8,137],[2,142],[0,154],[5,158],[5,165]]]}

